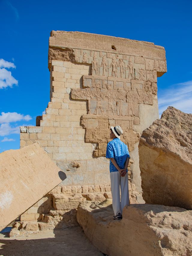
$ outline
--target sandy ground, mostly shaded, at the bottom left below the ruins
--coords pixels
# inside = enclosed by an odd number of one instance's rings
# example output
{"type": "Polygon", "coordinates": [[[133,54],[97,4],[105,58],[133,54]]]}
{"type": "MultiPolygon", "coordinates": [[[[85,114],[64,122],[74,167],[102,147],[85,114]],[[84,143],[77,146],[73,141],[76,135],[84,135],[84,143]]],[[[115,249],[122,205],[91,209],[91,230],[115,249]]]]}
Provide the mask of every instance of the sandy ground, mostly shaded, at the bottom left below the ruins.
{"type": "Polygon", "coordinates": [[[101,256],[85,237],[81,227],[39,231],[22,237],[0,234],[0,255],[3,256],[101,256]]]}

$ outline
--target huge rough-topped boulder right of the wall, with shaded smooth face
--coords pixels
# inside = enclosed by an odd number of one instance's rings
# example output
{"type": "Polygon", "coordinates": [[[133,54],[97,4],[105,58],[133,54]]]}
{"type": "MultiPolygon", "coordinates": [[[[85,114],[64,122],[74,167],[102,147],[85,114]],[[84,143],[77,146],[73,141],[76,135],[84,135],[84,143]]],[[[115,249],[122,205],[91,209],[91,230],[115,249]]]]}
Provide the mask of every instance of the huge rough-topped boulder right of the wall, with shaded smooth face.
{"type": "Polygon", "coordinates": [[[146,203],[192,209],[192,115],[168,107],[139,142],[146,203]]]}

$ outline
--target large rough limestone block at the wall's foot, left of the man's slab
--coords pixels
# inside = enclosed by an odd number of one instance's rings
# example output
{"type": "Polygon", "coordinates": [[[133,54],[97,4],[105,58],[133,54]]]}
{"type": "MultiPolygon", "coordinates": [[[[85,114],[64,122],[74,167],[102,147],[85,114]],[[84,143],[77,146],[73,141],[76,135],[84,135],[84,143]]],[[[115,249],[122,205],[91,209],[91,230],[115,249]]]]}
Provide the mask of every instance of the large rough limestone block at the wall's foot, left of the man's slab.
{"type": "Polygon", "coordinates": [[[53,207],[55,210],[76,209],[83,200],[86,199],[81,194],[53,194],[53,207]]]}

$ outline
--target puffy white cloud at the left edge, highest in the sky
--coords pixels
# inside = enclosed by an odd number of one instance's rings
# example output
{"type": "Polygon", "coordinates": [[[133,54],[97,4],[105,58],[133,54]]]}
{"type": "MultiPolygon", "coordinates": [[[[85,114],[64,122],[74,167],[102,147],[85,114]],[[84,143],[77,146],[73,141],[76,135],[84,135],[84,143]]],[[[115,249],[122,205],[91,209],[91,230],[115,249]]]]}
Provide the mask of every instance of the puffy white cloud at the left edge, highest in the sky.
{"type": "Polygon", "coordinates": [[[18,85],[18,81],[11,75],[11,71],[6,68],[16,68],[13,62],[0,59],[0,89],[18,85]]]}

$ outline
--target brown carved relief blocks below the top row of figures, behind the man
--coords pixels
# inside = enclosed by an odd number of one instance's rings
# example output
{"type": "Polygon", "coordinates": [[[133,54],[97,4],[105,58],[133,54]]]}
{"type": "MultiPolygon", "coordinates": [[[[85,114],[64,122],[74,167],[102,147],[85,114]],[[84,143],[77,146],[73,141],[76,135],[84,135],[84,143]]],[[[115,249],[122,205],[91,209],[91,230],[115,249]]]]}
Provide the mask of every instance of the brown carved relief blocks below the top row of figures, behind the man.
{"type": "Polygon", "coordinates": [[[98,143],[95,156],[105,154],[108,142],[108,130],[105,129],[109,124],[123,127],[123,138],[130,150],[138,141],[133,125],[140,124],[139,104],[153,104],[157,85],[152,81],[130,80],[129,86],[128,81],[117,77],[83,76],[83,89],[71,90],[72,99],[88,101],[88,114],[83,116],[82,125],[86,130],[85,141],[98,143]]]}

